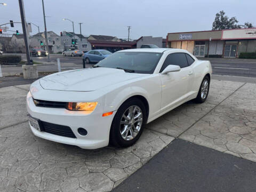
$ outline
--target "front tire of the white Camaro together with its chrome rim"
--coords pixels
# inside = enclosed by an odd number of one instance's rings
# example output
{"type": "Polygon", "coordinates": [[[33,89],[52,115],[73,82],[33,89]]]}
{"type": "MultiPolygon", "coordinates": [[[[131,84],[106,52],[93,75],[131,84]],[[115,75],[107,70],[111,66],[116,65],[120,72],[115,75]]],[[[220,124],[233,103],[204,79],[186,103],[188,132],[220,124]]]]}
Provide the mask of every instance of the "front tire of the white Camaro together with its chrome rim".
{"type": "Polygon", "coordinates": [[[132,146],[141,136],[147,123],[143,102],[133,98],[125,101],[117,110],[110,129],[110,144],[117,147],[132,146]]]}

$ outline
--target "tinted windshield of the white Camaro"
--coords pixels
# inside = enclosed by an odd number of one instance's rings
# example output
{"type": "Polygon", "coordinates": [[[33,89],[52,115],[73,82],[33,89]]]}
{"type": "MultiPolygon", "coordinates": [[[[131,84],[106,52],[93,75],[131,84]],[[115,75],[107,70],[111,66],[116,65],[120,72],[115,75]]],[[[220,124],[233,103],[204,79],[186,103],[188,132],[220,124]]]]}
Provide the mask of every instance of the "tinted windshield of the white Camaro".
{"type": "Polygon", "coordinates": [[[101,60],[95,67],[124,69],[130,73],[153,74],[162,53],[116,52],[101,60]]]}

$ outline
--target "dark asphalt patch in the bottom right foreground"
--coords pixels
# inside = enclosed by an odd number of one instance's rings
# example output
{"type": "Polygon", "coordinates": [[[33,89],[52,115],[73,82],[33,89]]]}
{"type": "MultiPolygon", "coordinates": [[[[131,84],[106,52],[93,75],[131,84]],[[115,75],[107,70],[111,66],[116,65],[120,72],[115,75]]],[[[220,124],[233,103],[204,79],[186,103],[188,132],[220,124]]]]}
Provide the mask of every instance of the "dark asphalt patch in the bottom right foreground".
{"type": "Polygon", "coordinates": [[[254,162],[175,139],[113,192],[254,192],[255,175],[254,162]]]}

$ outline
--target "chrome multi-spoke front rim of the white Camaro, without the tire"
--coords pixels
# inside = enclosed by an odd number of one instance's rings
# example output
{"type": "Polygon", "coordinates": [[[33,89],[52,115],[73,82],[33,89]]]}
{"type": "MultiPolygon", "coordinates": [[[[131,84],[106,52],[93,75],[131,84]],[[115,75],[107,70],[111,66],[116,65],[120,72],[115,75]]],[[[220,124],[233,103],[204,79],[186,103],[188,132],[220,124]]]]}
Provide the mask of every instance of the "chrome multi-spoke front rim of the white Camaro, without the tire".
{"type": "Polygon", "coordinates": [[[124,111],[120,122],[120,133],[124,140],[130,141],[136,137],[142,126],[142,110],[131,106],[124,111]]]}

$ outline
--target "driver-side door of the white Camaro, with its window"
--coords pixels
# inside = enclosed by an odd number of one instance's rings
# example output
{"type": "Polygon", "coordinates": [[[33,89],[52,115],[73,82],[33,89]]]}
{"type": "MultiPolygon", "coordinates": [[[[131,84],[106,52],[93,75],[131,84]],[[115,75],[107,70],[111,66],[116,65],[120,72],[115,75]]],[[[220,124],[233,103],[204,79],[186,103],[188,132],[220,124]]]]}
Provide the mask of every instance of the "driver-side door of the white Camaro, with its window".
{"type": "Polygon", "coordinates": [[[185,53],[171,53],[167,55],[160,73],[168,65],[178,65],[181,70],[177,72],[160,74],[162,83],[161,112],[178,106],[188,98],[189,81],[191,81],[191,67],[188,65],[185,53]]]}

